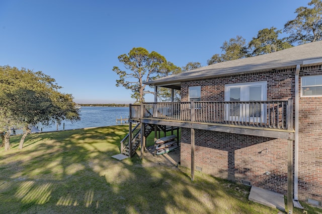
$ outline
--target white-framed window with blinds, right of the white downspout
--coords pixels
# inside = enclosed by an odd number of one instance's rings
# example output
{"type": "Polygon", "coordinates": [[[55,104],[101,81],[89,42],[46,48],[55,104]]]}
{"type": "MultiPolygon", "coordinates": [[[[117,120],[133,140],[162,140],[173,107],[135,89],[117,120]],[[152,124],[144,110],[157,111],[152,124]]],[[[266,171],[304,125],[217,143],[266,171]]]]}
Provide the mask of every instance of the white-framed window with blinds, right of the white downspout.
{"type": "Polygon", "coordinates": [[[301,96],[302,97],[322,96],[322,75],[302,77],[301,78],[301,96]]]}

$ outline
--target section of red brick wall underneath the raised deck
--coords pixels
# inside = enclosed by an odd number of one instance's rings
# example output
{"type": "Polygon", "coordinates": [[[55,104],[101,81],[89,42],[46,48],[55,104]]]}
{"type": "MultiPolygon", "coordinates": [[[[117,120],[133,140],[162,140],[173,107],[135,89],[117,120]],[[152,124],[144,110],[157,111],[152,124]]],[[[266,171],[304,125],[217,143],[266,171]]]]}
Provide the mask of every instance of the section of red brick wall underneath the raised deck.
{"type": "MultiPolygon", "coordinates": [[[[198,129],[195,136],[195,166],[202,172],[285,193],[287,140],[198,129]]],[[[183,129],[181,164],[190,167],[190,156],[190,129],[183,129]]]]}

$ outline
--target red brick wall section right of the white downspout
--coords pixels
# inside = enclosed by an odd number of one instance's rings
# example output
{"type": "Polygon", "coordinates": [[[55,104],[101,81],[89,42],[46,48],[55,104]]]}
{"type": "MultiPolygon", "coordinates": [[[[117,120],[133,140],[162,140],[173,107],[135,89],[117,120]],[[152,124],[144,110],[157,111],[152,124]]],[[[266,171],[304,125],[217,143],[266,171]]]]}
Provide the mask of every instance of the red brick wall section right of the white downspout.
{"type": "MultiPolygon", "coordinates": [[[[322,75],[321,66],[301,69],[301,76],[322,75]]],[[[322,97],[299,98],[299,196],[322,201],[322,97]]]]}

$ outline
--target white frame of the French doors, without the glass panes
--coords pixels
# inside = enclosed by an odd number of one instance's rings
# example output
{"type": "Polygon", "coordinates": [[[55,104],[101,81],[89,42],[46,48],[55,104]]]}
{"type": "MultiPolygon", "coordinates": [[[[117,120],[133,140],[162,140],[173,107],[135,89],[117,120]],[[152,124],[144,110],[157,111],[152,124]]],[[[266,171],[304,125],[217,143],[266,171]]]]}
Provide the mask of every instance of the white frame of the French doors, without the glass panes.
{"type": "MultiPolygon", "coordinates": [[[[251,83],[236,83],[236,84],[227,84],[225,85],[225,101],[230,101],[230,89],[240,88],[240,101],[249,101],[251,87],[261,87],[261,100],[267,100],[267,82],[251,82],[251,83]]],[[[239,122],[266,122],[266,105],[261,105],[261,116],[252,117],[250,116],[250,105],[249,104],[240,104],[239,105],[239,116],[231,116],[230,106],[226,104],[225,109],[225,119],[229,121],[239,121],[239,122]]]]}

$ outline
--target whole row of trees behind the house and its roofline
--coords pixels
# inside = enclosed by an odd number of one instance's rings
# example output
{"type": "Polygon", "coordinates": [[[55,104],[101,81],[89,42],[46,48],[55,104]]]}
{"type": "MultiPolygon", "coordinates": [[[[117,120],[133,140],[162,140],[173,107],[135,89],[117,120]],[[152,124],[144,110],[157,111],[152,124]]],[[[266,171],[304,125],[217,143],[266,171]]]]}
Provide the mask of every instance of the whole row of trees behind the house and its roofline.
{"type": "MultiPolygon", "coordinates": [[[[308,6],[311,7],[297,8],[296,18],[284,25],[283,32],[288,34],[287,37],[280,39],[282,30],[275,27],[260,30],[249,43],[242,36],[236,36],[224,41],[220,47],[222,53],[214,54],[207,60],[207,65],[268,54],[322,40],[322,2],[311,0],[308,6]]],[[[157,52],[149,53],[141,47],[118,56],[118,60],[124,65],[125,70],[113,67],[112,71],[119,76],[116,86],[131,90],[131,97],[135,99],[135,103],[144,102],[146,94],[154,94],[143,82],[202,67],[200,62],[188,62],[187,65],[178,67],[157,52]]],[[[170,101],[170,94],[169,89],[160,88],[157,98],[159,101],[170,101]]],[[[180,92],[176,91],[175,95],[175,101],[179,101],[180,92]]]]}

